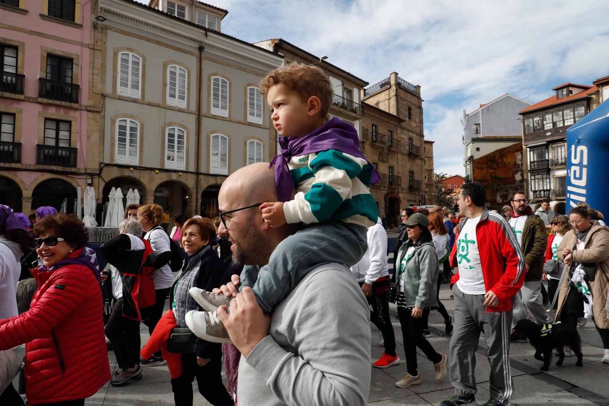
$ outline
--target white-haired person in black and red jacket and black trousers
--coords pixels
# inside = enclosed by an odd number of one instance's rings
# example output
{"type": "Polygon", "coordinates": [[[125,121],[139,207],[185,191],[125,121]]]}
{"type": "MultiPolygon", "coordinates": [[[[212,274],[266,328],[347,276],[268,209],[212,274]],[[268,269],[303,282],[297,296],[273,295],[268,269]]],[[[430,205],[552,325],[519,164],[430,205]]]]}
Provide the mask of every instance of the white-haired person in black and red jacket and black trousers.
{"type": "MultiPolygon", "coordinates": [[[[111,265],[112,294],[116,298],[106,324],[106,337],[114,346],[119,369],[110,383],[125,385],[142,377],[139,366],[139,322],[155,304],[153,272],[155,255],[150,243],[140,238],[144,230],[135,218],[123,220],[121,234],[104,243],[102,255],[111,265]]],[[[107,276],[102,274],[102,278],[107,276]]]]}

